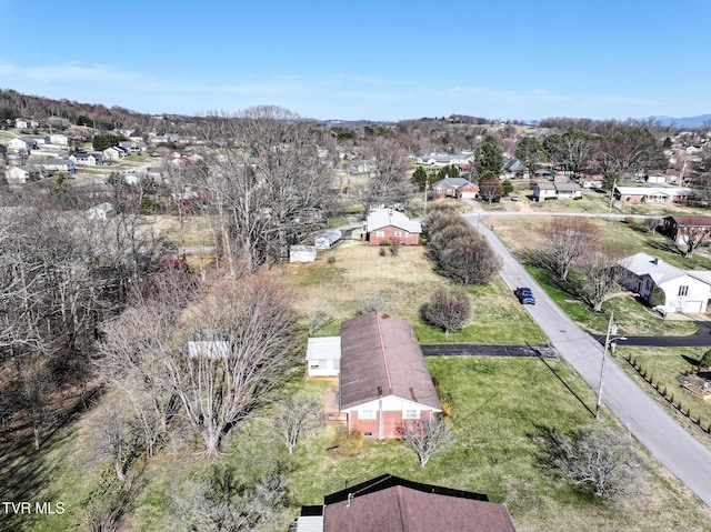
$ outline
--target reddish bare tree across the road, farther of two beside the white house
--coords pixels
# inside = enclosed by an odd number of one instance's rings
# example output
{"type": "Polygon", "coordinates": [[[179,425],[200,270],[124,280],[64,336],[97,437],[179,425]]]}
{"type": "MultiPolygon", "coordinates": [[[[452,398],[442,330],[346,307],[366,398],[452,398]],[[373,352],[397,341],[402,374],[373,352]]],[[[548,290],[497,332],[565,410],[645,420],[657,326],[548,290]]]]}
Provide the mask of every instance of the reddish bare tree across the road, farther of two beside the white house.
{"type": "Polygon", "coordinates": [[[573,262],[598,241],[599,230],[584,218],[554,218],[545,224],[543,254],[561,280],[568,279],[573,262]]]}

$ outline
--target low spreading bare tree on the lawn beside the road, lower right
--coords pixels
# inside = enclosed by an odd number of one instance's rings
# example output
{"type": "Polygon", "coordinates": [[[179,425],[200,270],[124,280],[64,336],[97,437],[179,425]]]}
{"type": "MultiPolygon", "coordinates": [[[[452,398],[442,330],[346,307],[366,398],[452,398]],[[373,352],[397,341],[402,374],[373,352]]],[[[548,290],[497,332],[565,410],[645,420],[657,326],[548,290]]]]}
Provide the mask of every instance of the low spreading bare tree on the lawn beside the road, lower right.
{"type": "Polygon", "coordinates": [[[541,463],[583,492],[620,502],[648,486],[647,465],[624,434],[594,425],[572,435],[548,431],[542,440],[541,463]]]}

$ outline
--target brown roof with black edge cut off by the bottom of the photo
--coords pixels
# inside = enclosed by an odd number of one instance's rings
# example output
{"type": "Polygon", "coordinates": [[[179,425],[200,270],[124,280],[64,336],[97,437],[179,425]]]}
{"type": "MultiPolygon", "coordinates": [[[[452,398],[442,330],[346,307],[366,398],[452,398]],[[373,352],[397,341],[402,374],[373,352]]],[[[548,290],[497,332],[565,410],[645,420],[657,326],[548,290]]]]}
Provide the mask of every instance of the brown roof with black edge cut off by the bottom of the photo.
{"type": "Polygon", "coordinates": [[[302,506],[297,532],[515,532],[504,504],[482,493],[383,474],[302,506]]]}

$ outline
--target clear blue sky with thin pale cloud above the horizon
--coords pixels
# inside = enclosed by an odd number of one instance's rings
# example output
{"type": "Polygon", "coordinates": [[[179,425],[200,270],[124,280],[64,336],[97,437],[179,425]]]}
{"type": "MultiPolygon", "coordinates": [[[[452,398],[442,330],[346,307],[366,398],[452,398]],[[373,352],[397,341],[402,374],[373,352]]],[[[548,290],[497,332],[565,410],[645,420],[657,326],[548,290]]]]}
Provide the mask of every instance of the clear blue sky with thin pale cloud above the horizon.
{"type": "Polygon", "coordinates": [[[711,113],[709,0],[0,0],[0,88],[148,113],[711,113]]]}

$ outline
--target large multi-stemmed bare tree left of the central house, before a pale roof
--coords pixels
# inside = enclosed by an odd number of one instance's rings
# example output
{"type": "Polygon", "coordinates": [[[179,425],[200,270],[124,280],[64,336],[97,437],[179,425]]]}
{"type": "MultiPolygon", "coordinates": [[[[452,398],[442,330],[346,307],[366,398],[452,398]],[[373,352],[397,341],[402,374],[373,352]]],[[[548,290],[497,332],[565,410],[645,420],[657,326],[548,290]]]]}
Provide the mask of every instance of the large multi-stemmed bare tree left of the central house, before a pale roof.
{"type": "Polygon", "coordinates": [[[230,428],[269,401],[294,363],[293,311],[268,275],[247,275],[218,290],[181,323],[174,339],[180,348],[162,360],[209,455],[219,453],[230,428]],[[190,352],[191,338],[203,331],[216,332],[208,340],[210,349],[190,352]]]}

